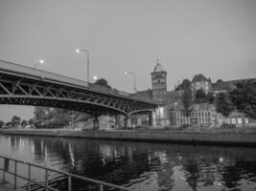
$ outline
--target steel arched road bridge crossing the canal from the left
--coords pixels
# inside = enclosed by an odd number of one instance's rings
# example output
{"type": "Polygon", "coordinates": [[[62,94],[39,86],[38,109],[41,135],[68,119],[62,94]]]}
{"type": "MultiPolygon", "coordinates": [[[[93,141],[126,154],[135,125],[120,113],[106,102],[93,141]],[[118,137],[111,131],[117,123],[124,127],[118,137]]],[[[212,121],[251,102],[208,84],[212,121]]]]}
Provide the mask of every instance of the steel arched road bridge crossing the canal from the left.
{"type": "Polygon", "coordinates": [[[157,104],[128,93],[0,60],[0,104],[54,107],[92,117],[150,112],[157,104]]]}

